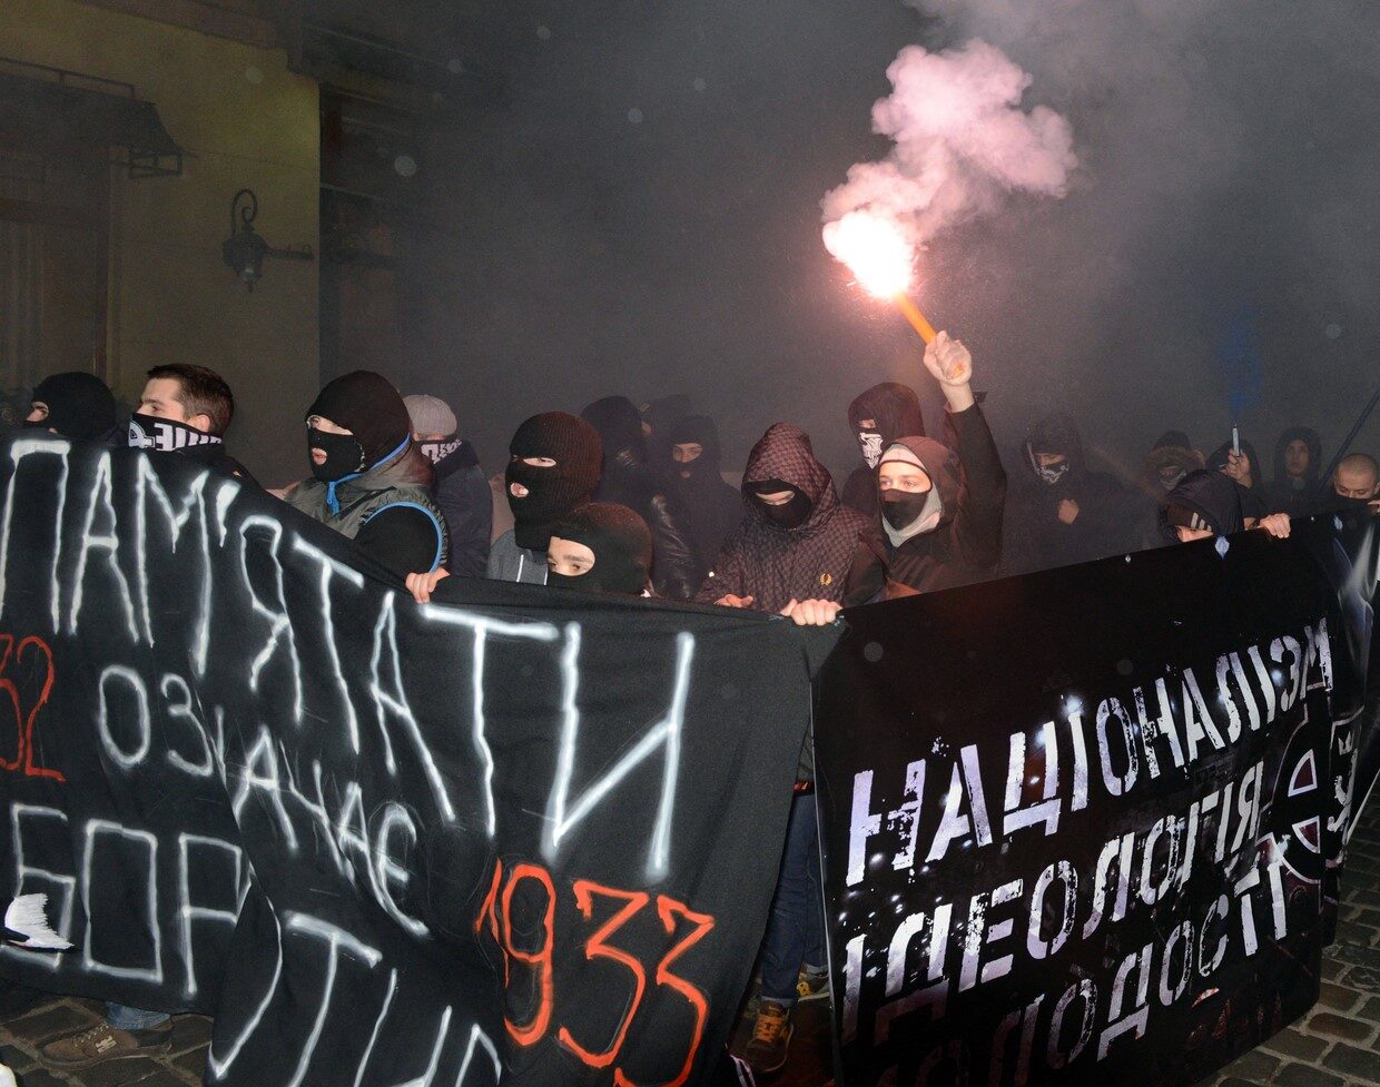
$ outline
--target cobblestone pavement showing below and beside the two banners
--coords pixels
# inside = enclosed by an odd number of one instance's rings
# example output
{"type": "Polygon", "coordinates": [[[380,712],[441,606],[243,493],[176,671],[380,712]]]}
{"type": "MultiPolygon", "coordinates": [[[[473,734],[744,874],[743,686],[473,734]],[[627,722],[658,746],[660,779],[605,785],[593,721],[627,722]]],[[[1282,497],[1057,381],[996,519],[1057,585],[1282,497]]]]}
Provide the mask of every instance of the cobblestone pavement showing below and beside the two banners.
{"type": "MultiPolygon", "coordinates": [[[[1323,956],[1322,999],[1301,1019],[1219,1075],[1184,1087],[1380,1087],[1380,804],[1362,818],[1341,883],[1337,942],[1323,956]]],[[[99,1021],[105,1006],[26,989],[0,990],[0,1061],[21,1087],[189,1087],[201,1083],[211,1021],[178,1015],[171,1050],[95,1065],[83,1072],[46,1069],[37,1048],[58,1035],[99,1021]]],[[[770,1087],[824,1087],[829,1068],[829,1003],[802,1006],[791,1061],[770,1087]]],[[[744,1015],[734,1036],[741,1053],[751,1036],[744,1015]]]]}

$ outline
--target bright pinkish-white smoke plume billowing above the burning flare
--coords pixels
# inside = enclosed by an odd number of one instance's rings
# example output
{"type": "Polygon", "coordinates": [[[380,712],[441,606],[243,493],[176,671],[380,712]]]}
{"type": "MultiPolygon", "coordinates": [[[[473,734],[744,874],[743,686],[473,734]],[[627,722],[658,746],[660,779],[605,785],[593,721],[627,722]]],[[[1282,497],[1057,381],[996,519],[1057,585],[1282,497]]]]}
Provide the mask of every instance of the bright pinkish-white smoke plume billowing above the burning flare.
{"type": "Polygon", "coordinates": [[[822,201],[824,243],[839,257],[838,223],[861,212],[894,222],[911,246],[1013,192],[1063,196],[1078,164],[1072,130],[1058,113],[1021,99],[1031,77],[985,41],[929,52],[901,50],[887,68],[893,92],[872,106],[872,128],[896,146],[858,163],[822,201]]]}

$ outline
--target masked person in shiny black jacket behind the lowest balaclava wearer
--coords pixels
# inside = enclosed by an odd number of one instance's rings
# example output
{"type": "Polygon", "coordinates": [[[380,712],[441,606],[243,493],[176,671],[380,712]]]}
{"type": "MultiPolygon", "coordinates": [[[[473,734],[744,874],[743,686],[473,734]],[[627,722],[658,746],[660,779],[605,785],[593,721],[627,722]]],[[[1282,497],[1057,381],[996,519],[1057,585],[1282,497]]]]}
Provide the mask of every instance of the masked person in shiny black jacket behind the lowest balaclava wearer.
{"type": "Polygon", "coordinates": [[[603,476],[595,499],[628,506],[651,528],[651,585],[658,596],[689,600],[698,585],[694,550],[647,463],[642,412],[625,396],[606,396],[580,412],[603,443],[603,476]]]}

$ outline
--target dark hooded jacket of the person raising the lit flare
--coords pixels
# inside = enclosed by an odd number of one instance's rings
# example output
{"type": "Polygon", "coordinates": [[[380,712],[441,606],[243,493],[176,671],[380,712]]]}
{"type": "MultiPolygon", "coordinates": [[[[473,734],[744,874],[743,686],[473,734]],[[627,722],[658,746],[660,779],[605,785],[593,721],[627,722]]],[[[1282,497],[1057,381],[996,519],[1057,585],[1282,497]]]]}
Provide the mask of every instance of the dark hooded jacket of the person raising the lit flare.
{"type": "Polygon", "coordinates": [[[956,450],[931,437],[898,440],[923,465],[938,491],[936,527],[893,546],[876,513],[858,542],[843,603],[891,600],[972,585],[991,577],[1002,556],[1006,470],[977,404],[948,412],[956,450]]]}

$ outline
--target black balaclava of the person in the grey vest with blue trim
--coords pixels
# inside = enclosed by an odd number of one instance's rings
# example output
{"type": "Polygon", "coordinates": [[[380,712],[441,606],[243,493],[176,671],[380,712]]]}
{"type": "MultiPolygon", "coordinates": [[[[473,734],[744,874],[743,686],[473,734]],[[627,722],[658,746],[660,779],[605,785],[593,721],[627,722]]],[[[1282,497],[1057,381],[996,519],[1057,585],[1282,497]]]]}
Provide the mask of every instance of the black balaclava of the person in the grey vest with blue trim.
{"type": "Polygon", "coordinates": [[[306,418],[320,415],[348,435],[327,435],[306,429],[308,448],[326,451],[326,463],[312,462],[312,475],[323,483],[339,483],[375,468],[402,452],[411,440],[413,422],[402,395],[388,378],[356,370],[330,382],[306,410],[306,418]]]}

